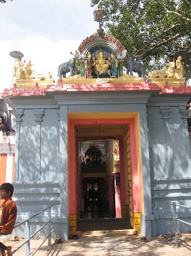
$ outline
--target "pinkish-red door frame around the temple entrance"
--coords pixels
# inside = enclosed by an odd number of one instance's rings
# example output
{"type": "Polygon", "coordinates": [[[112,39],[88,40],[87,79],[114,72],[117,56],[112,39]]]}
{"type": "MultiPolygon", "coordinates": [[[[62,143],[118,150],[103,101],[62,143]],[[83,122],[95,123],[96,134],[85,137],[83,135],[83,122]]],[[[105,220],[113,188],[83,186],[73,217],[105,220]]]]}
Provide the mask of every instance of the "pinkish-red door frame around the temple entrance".
{"type": "MultiPolygon", "coordinates": [[[[96,118],[96,119],[69,119],[69,136],[68,136],[68,163],[69,163],[69,182],[68,182],[68,206],[69,206],[69,215],[76,215],[76,174],[75,174],[75,125],[129,125],[130,133],[130,147],[131,147],[131,170],[132,170],[132,193],[133,193],[133,205],[134,213],[139,213],[139,189],[138,189],[138,173],[137,173],[137,154],[136,154],[136,129],[135,129],[135,119],[134,118],[96,118]],[[71,161],[70,159],[74,159],[71,161]]],[[[119,142],[121,145],[119,150],[123,151],[124,145],[119,142]]],[[[124,154],[120,154],[120,168],[125,168],[125,158],[124,154]],[[122,167],[122,166],[123,167],[122,167]]],[[[125,172],[124,172],[125,176],[125,172]]],[[[125,181],[125,177],[122,176],[121,180],[125,181]]],[[[123,186],[122,186],[123,187],[123,186]]],[[[121,191],[122,202],[125,201],[124,193],[121,191]]]]}

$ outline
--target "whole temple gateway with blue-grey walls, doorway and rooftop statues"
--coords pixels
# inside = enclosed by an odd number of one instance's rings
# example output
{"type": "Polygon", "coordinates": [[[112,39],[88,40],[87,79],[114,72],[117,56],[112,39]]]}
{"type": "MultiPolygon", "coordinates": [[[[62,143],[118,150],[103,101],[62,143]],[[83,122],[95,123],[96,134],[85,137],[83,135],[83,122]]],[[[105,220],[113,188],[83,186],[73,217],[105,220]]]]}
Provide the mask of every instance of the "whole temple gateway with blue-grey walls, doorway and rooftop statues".
{"type": "MultiPolygon", "coordinates": [[[[146,67],[101,26],[59,65],[56,82],[14,56],[15,83],[1,97],[16,118],[18,221],[53,205],[55,237],[63,239],[102,225],[173,233],[168,203],[191,205],[191,87],[182,57],[149,71],[147,81],[146,67]]],[[[191,221],[191,211],[179,218],[191,221]]],[[[179,232],[189,230],[182,223],[179,232]]]]}

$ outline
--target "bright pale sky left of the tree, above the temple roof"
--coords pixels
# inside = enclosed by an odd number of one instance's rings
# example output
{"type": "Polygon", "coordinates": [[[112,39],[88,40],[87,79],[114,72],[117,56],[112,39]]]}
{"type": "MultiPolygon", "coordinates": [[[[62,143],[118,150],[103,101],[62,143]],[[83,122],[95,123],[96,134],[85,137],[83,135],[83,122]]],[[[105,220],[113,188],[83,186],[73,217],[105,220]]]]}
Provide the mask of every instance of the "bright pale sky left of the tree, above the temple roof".
{"type": "MultiPolygon", "coordinates": [[[[50,71],[71,58],[81,41],[99,27],[90,0],[13,0],[0,3],[0,92],[10,88],[14,50],[30,59],[32,70],[50,71]]],[[[13,79],[14,81],[14,79],[13,79]]]]}

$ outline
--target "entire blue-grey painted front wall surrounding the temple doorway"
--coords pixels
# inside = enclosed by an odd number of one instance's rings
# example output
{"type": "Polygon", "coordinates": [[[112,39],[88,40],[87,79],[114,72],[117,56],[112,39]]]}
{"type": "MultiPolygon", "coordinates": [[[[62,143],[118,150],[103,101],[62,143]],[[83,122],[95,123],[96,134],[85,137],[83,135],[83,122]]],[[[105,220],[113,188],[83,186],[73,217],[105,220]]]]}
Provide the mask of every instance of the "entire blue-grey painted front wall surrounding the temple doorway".
{"type": "MultiPolygon", "coordinates": [[[[147,236],[172,231],[168,225],[172,206],[166,202],[191,205],[191,156],[185,122],[188,98],[141,91],[11,97],[16,109],[15,197],[20,216],[54,204],[56,235],[66,239],[68,113],[110,112],[112,117],[112,112],[139,112],[144,184],[141,230],[147,236]],[[165,221],[166,225],[160,225],[165,221]]],[[[185,211],[183,215],[191,217],[185,211]]]]}

